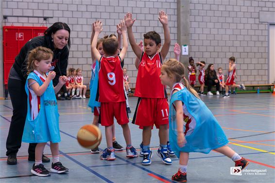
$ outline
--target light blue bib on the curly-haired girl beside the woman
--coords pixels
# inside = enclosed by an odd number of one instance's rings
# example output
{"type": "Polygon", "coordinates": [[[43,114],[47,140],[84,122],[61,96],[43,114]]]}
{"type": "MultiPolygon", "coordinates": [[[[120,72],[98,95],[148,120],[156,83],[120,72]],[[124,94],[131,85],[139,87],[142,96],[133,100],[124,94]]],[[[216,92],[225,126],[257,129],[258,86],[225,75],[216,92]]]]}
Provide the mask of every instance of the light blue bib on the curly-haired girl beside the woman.
{"type": "MultiPolygon", "coordinates": [[[[39,76],[34,72],[31,72],[27,78],[25,84],[25,90],[29,99],[29,88],[28,80],[35,80],[39,86],[43,84],[39,76]]],[[[34,120],[31,118],[30,102],[28,100],[28,113],[26,117],[24,132],[22,141],[27,143],[42,143],[49,142],[57,143],[60,142],[59,132],[59,114],[57,109],[57,101],[54,93],[52,81],[48,88],[40,96],[40,110],[34,120]]]]}

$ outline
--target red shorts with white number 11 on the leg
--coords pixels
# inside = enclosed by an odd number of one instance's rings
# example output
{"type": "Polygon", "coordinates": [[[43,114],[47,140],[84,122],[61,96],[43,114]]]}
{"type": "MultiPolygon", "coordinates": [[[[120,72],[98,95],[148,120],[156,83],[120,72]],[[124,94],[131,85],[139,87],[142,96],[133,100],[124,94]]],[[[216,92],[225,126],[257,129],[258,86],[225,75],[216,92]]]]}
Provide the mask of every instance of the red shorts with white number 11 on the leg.
{"type": "Polygon", "coordinates": [[[144,126],[169,124],[169,104],[167,99],[138,98],[133,117],[134,124],[143,129],[144,126]]]}

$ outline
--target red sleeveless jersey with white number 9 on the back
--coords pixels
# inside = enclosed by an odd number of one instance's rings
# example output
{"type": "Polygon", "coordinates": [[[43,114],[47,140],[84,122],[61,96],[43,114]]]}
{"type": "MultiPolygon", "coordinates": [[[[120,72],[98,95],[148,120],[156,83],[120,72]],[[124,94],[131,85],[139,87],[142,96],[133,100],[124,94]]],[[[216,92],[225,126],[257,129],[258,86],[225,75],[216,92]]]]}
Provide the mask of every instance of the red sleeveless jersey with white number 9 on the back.
{"type": "Polygon", "coordinates": [[[100,102],[125,101],[123,70],[120,56],[101,57],[98,99],[100,102]]]}

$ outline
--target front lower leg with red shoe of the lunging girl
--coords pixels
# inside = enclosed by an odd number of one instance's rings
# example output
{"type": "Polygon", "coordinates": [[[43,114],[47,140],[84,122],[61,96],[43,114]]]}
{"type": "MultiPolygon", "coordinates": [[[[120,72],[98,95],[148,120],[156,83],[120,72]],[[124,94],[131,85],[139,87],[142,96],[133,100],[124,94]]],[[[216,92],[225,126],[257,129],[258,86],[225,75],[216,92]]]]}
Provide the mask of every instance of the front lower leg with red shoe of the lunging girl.
{"type": "Polygon", "coordinates": [[[189,160],[189,153],[188,152],[180,152],[179,169],[178,169],[178,172],[172,176],[173,181],[178,181],[180,183],[187,182],[188,160],[189,160]]]}

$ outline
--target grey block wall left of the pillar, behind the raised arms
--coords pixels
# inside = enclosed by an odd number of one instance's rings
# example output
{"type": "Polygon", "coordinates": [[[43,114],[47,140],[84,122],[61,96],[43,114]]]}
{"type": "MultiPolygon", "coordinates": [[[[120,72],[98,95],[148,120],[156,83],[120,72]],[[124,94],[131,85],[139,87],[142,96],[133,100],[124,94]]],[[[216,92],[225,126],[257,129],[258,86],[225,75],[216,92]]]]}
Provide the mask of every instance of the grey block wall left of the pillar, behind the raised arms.
{"type": "MultiPolygon", "coordinates": [[[[137,42],[143,40],[143,33],[155,30],[162,41],[163,29],[158,21],[158,12],[164,10],[169,15],[172,46],[167,58],[173,57],[173,45],[177,33],[177,6],[176,0],[2,0],[3,15],[18,16],[49,16],[48,22],[43,18],[8,17],[3,20],[2,26],[51,26],[52,23],[62,21],[68,23],[71,29],[71,48],[69,53],[69,66],[82,68],[84,83],[90,80],[90,35],[91,24],[97,19],[103,21],[104,27],[101,36],[116,32],[116,24],[124,18],[127,12],[132,12],[137,18],[133,31],[137,42]]],[[[131,87],[135,87],[137,69],[134,66],[135,54],[129,45],[125,57],[124,67],[128,68],[131,87]]]]}

